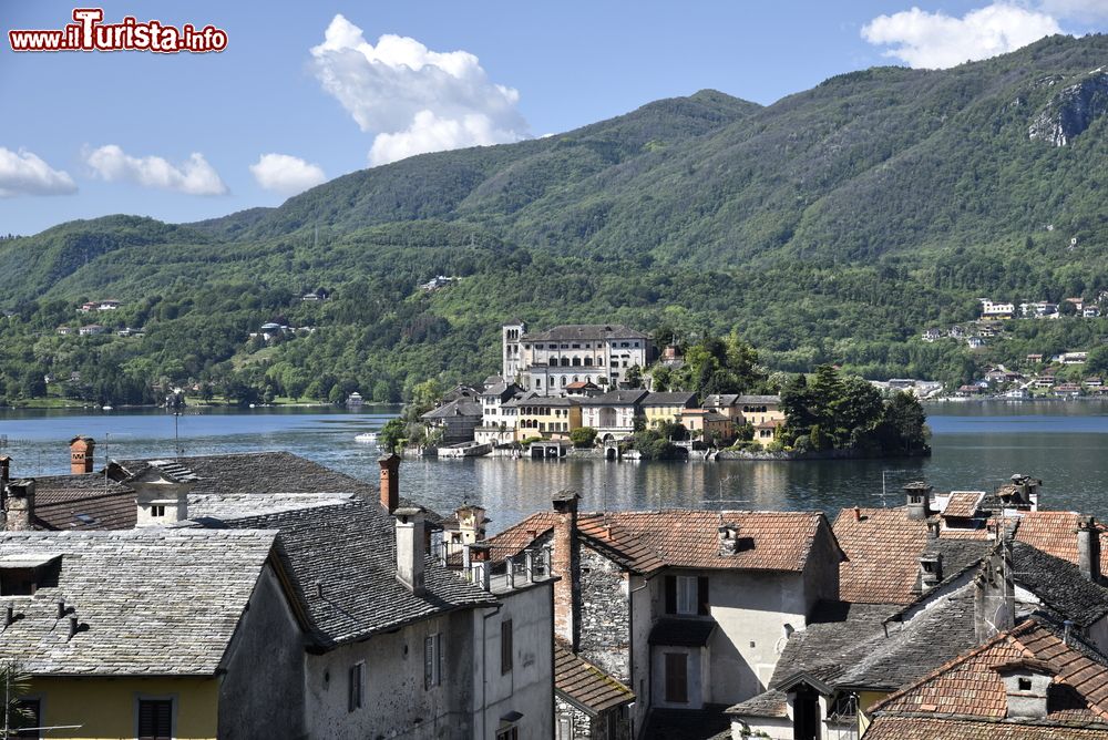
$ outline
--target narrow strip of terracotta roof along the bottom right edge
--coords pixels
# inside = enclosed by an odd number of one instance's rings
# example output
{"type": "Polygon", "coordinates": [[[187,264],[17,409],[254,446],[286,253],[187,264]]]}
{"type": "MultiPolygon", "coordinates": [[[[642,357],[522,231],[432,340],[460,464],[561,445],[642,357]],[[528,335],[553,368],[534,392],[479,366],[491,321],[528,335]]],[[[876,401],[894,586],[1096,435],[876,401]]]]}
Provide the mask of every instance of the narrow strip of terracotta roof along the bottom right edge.
{"type": "Polygon", "coordinates": [[[879,717],[865,740],[1104,740],[1108,728],[973,722],[921,717],[879,717]]]}

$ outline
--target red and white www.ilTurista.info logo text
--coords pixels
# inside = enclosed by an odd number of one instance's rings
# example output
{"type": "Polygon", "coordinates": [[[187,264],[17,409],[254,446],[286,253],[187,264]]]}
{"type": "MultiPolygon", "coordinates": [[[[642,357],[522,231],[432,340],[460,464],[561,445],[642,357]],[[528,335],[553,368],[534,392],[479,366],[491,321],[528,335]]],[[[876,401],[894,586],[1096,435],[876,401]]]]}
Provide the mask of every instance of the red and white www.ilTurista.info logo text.
{"type": "Polygon", "coordinates": [[[8,31],[12,51],[154,51],[174,54],[204,53],[227,48],[227,32],[214,25],[197,29],[185,23],[179,29],[161,21],[141,23],[127,16],[120,23],[104,23],[101,8],[76,8],[74,23],[63,29],[8,31]]]}

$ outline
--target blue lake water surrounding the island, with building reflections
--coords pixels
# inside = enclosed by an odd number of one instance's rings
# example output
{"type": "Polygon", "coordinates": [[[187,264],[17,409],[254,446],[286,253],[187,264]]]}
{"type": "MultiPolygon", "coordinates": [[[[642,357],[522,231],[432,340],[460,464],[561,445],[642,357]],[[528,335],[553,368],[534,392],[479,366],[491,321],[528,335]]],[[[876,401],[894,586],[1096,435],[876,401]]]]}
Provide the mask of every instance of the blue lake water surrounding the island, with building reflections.
{"type": "MultiPolygon", "coordinates": [[[[947,403],[927,408],[933,454],[923,460],[820,462],[604,462],[469,459],[406,460],[401,493],[440,512],[485,506],[490,533],[548,507],[572,487],[584,507],[822,508],[902,503],[900,486],[925,479],[938,490],[993,490],[1013,473],[1043,479],[1043,505],[1108,518],[1108,402],[947,403]],[[882,484],[888,491],[882,496],[882,484]]],[[[288,450],[376,485],[372,445],[353,441],[396,407],[0,412],[0,454],[13,475],[69,471],[69,440],[96,439],[107,458],[171,458],[288,450]],[[175,429],[176,424],[176,429],[175,429]],[[0,442],[2,444],[2,442],[0,442]]]]}

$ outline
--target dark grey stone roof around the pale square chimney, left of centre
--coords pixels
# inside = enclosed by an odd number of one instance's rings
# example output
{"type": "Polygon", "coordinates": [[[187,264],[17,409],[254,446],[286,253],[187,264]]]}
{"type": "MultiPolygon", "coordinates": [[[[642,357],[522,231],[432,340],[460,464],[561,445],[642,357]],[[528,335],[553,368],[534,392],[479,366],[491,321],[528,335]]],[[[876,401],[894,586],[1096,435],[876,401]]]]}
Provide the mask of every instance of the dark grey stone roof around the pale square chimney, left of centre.
{"type": "Polygon", "coordinates": [[[317,628],[316,638],[325,647],[454,609],[497,603],[433,557],[424,561],[423,596],[402,586],[397,580],[394,520],[377,504],[355,501],[204,524],[280,532],[288,571],[317,628]]]}

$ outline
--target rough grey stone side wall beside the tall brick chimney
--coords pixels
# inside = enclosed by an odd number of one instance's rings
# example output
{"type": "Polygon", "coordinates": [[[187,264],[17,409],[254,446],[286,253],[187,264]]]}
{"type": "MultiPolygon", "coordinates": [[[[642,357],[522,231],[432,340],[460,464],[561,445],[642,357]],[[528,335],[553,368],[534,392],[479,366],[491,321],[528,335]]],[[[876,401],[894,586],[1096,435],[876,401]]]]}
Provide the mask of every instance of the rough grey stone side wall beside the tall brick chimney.
{"type": "Polygon", "coordinates": [[[630,614],[627,574],[596,551],[581,547],[582,657],[630,682],[630,614]]]}

